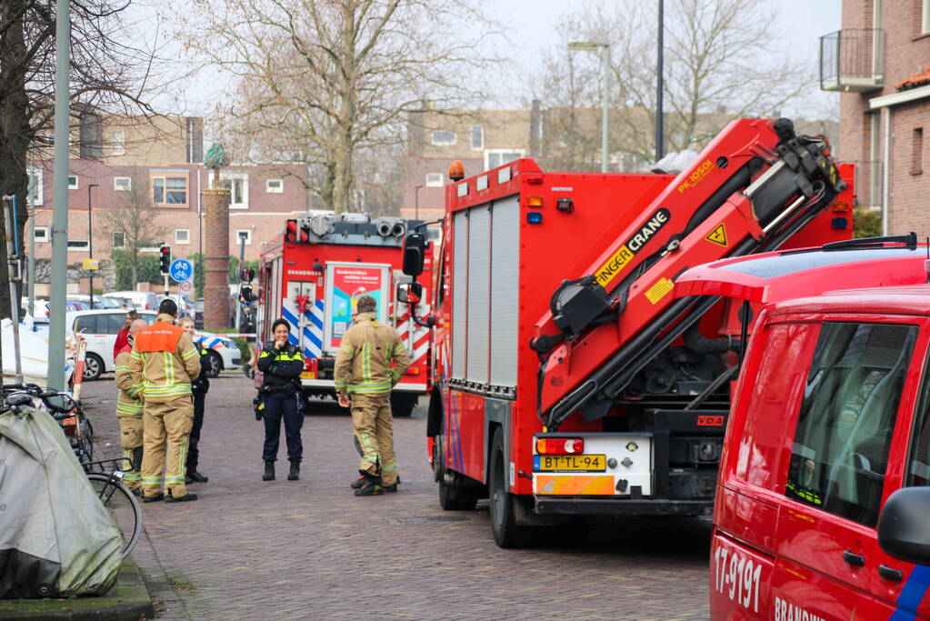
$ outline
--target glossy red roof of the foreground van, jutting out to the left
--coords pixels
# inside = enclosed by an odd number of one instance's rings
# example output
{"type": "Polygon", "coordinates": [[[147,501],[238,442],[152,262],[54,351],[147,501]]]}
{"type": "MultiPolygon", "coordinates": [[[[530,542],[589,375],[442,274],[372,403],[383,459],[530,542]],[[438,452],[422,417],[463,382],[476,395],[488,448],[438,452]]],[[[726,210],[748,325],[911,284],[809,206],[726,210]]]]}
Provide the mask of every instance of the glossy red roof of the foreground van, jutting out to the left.
{"type": "Polygon", "coordinates": [[[926,246],[854,245],[725,258],[675,281],[675,297],[724,296],[777,303],[824,292],[925,284],[926,246]]]}

